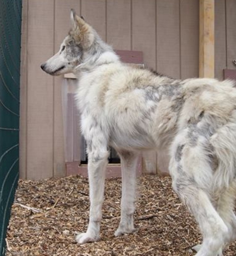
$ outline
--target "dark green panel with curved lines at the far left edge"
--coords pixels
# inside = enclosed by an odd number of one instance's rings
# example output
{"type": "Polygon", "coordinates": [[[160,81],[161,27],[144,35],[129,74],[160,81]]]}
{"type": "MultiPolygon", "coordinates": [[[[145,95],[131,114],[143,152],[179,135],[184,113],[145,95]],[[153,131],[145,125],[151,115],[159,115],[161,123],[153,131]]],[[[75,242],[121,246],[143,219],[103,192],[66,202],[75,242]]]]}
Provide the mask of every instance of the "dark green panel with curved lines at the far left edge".
{"type": "Polygon", "coordinates": [[[0,256],[19,177],[22,0],[0,0],[0,256]]]}

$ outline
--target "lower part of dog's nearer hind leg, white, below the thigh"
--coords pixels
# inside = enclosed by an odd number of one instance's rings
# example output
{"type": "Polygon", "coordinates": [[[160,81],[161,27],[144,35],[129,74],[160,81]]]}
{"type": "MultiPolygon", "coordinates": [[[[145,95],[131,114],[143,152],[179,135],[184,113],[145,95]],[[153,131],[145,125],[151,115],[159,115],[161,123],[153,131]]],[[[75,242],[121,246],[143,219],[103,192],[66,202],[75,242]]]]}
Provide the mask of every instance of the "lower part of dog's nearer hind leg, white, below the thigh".
{"type": "Polygon", "coordinates": [[[228,227],[212,206],[207,193],[191,183],[182,185],[176,182],[174,188],[195,216],[203,234],[203,244],[196,256],[220,256],[228,227]]]}

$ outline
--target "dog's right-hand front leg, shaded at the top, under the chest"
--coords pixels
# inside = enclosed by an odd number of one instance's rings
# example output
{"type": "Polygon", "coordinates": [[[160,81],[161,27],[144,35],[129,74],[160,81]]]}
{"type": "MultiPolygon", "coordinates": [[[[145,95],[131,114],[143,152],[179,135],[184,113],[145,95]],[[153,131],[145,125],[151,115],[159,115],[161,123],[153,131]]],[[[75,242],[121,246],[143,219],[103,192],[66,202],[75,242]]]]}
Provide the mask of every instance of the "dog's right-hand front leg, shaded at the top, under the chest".
{"type": "Polygon", "coordinates": [[[138,155],[134,152],[119,152],[122,172],[122,198],[120,223],[115,236],[132,233],[134,229],[134,202],[136,189],[136,167],[138,155]]]}

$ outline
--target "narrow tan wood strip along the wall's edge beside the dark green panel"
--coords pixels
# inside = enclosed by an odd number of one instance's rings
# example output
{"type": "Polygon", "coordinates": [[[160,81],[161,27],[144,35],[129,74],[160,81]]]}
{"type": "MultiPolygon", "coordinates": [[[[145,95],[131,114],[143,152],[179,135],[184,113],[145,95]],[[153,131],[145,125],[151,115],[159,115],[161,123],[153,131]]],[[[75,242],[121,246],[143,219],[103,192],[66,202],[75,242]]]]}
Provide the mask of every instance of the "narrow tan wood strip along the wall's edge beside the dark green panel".
{"type": "Polygon", "coordinates": [[[20,178],[27,176],[27,10],[28,1],[22,1],[21,80],[20,80],[20,178]]]}

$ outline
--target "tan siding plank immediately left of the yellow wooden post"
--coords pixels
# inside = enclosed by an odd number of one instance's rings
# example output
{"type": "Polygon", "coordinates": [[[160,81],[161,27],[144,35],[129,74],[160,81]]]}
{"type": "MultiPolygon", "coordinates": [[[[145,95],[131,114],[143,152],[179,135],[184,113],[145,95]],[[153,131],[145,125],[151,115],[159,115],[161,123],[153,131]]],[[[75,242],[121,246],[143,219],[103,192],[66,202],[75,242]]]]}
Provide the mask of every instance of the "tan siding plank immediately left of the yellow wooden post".
{"type": "Polygon", "coordinates": [[[180,0],[181,78],[199,73],[199,0],[180,0]]]}

